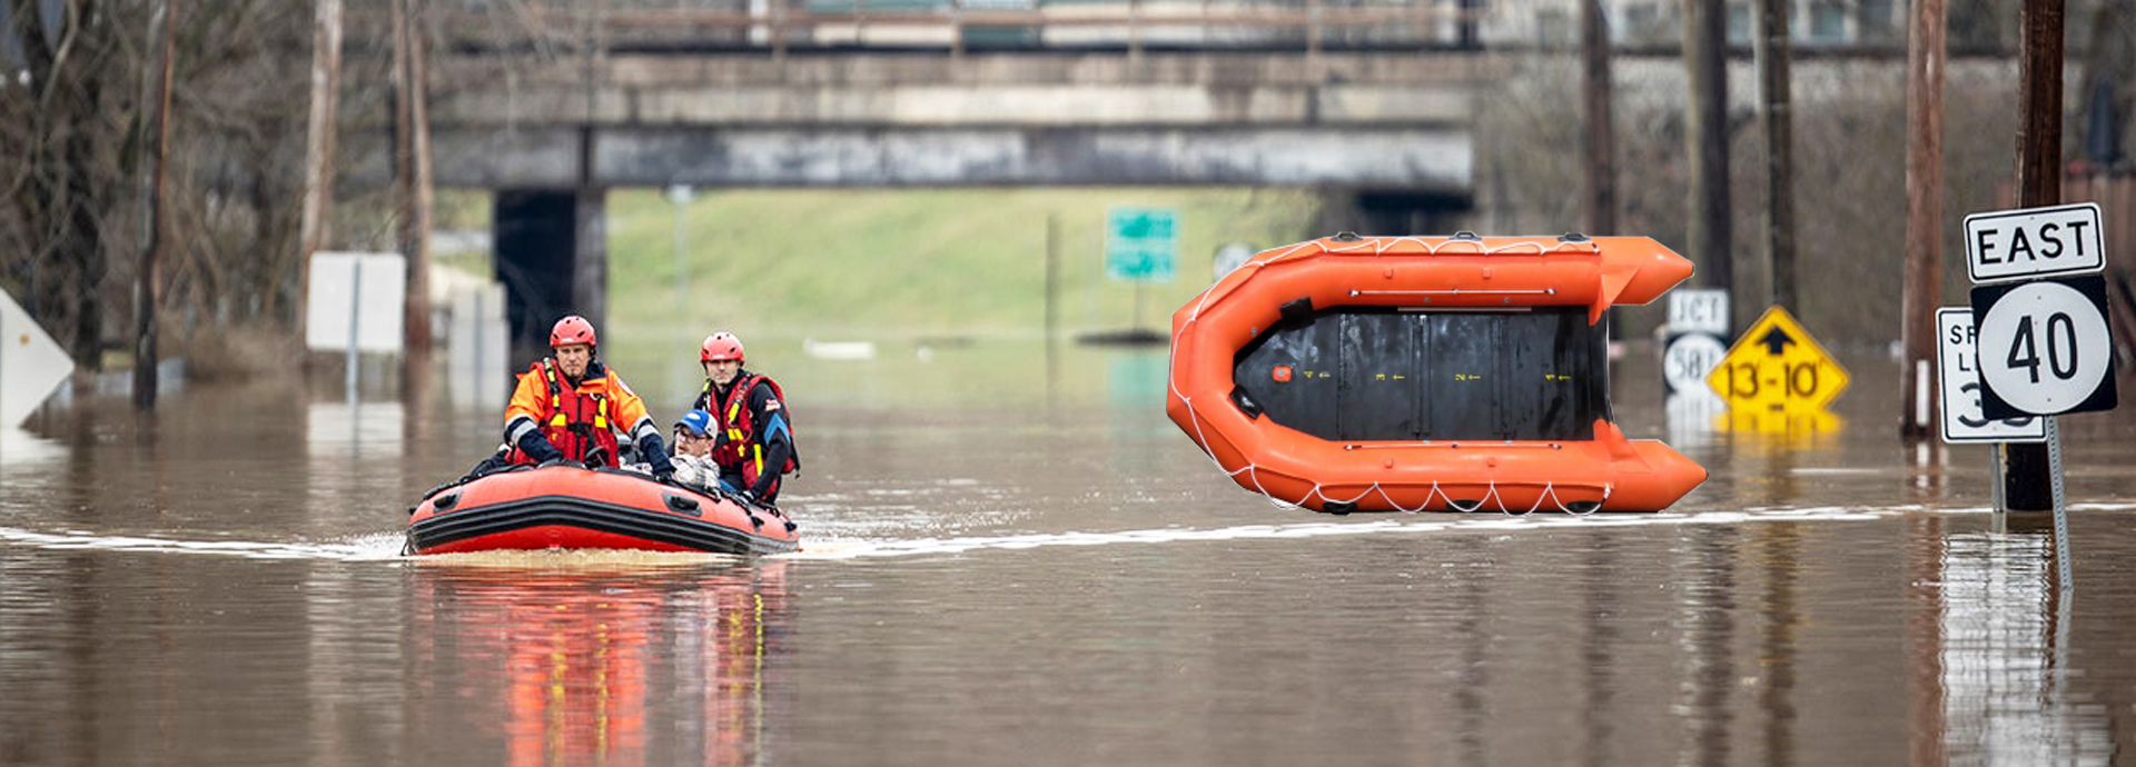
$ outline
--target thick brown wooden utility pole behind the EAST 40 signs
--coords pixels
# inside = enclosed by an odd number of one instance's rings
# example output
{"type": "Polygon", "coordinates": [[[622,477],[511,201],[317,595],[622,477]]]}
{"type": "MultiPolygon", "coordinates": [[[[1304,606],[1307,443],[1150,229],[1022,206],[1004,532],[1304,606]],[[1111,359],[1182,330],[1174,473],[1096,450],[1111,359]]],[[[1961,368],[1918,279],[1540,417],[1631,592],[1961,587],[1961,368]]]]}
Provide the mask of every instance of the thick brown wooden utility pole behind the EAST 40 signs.
{"type": "MultiPolygon", "coordinates": [[[[2025,0],[2019,19],[2016,66],[2016,203],[2061,203],[2061,0],[2025,0]]],[[[2053,511],[2053,468],[2046,451],[2061,451],[2055,417],[2046,442],[2006,442],[2004,502],[2010,511],[2053,511]]]]}

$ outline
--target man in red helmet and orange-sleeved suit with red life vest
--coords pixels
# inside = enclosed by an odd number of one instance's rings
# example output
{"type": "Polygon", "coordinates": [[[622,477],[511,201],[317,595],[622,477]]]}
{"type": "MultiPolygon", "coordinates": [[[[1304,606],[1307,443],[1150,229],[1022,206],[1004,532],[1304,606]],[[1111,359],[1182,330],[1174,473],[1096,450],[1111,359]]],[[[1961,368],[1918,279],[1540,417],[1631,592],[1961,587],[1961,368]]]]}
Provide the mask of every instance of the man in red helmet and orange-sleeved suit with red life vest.
{"type": "Polygon", "coordinates": [[[660,427],[645,412],[645,402],[624,385],[624,378],[594,359],[594,323],[570,314],[549,329],[545,357],[519,376],[513,404],[504,408],[504,444],[511,464],[547,464],[553,459],[587,466],[617,466],[615,432],[628,423],[639,457],[654,476],[669,479],[669,461],[660,427]]]}

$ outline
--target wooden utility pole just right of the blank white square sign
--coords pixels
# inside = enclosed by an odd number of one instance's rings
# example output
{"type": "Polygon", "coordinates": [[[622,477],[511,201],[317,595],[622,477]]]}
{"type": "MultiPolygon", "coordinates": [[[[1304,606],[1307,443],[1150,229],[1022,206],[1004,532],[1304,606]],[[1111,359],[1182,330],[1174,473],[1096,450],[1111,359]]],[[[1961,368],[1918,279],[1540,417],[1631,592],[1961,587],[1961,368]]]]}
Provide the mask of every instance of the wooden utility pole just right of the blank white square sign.
{"type": "Polygon", "coordinates": [[[425,45],[417,26],[421,0],[393,2],[393,175],[399,186],[399,248],[408,259],[406,378],[421,391],[429,367],[429,109],[425,45]]]}

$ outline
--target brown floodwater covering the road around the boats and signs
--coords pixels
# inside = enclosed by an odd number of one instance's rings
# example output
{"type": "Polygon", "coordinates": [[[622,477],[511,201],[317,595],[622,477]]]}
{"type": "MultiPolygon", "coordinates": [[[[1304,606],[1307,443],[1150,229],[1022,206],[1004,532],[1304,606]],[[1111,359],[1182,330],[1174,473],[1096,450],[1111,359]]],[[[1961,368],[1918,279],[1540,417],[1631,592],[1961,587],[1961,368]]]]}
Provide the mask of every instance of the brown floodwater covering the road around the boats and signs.
{"type": "MultiPolygon", "coordinates": [[[[1164,419],[1162,350],[788,346],[752,346],[805,464],[767,560],[399,558],[498,440],[444,391],[6,432],[0,765],[2136,763],[2130,410],[2063,423],[2059,598],[1986,449],[1897,444],[1882,357],[1803,440],[1670,423],[1628,357],[1623,432],[1713,474],[1668,513],[1326,517],[1164,419]]],[[[617,367],[662,421],[694,393],[617,367]]]]}

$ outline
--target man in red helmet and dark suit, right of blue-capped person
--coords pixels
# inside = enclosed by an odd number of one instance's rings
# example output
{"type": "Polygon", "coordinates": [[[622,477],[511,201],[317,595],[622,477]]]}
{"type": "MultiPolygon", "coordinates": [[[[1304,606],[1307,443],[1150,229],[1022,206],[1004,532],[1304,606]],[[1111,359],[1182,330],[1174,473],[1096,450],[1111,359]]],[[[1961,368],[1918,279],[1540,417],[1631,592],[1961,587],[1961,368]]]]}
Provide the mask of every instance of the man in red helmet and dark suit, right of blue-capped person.
{"type": "Polygon", "coordinates": [[[741,370],[741,340],[735,333],[707,335],[696,359],[705,363],[705,391],[692,408],[720,421],[711,449],[720,483],[765,504],[778,502],[780,476],[801,468],[786,393],[775,380],[741,370]]]}

